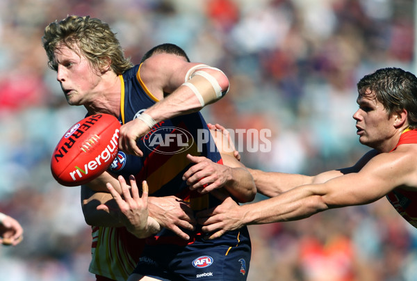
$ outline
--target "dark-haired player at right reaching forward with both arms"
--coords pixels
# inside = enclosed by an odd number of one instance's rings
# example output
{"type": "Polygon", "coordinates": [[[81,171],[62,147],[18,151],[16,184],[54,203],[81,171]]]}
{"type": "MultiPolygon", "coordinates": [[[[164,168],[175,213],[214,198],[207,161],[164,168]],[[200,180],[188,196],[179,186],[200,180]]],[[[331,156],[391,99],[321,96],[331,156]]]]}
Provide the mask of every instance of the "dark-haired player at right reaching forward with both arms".
{"type": "Polygon", "coordinates": [[[202,211],[203,229],[214,238],[243,225],[298,220],[383,197],[417,227],[417,77],[387,67],[364,76],[357,88],[357,134],[373,150],[350,168],[313,177],[252,170],[258,190],[272,198],[243,206],[226,199],[202,211]]]}

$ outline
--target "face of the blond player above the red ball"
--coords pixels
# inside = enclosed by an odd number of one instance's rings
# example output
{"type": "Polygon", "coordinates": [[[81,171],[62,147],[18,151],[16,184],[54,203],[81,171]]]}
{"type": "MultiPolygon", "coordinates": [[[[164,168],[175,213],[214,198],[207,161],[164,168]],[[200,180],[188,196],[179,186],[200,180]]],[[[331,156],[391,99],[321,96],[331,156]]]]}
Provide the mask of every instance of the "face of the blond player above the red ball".
{"type": "Polygon", "coordinates": [[[99,73],[84,56],[80,56],[78,47],[73,49],[65,45],[56,48],[56,79],[70,105],[83,105],[92,102],[93,93],[100,81],[99,73]]]}

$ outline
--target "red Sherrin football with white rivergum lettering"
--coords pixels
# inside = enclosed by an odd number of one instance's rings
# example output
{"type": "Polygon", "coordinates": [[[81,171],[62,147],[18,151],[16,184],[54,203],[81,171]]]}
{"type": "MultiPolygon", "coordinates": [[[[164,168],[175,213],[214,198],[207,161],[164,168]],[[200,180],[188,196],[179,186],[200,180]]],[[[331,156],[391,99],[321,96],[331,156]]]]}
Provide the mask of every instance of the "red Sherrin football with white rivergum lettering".
{"type": "Polygon", "coordinates": [[[117,156],[119,129],[119,120],[109,114],[91,115],[76,122],[52,155],[54,178],[63,186],[79,186],[98,177],[117,156]]]}

